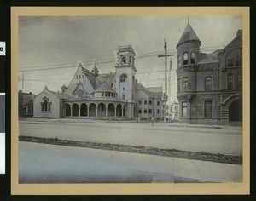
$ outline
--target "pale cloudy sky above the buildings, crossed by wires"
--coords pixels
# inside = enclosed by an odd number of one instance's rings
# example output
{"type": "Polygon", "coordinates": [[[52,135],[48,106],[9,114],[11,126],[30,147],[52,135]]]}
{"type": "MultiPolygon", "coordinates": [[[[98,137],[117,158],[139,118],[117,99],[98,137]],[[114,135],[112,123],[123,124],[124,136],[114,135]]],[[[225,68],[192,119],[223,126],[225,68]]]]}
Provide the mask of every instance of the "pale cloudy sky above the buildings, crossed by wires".
{"type": "MultiPolygon", "coordinates": [[[[241,20],[233,15],[189,16],[204,53],[230,43],[242,27],[241,20]]],[[[145,87],[164,86],[165,60],[158,55],[164,54],[166,40],[168,54],[174,54],[167,62],[167,93],[169,100],[176,100],[176,46],[187,23],[186,15],[19,17],[19,89],[34,95],[45,86],[61,91],[79,62],[91,70],[96,61],[100,74],[115,72],[116,52],[126,44],[136,52],[138,82],[145,87]]]]}

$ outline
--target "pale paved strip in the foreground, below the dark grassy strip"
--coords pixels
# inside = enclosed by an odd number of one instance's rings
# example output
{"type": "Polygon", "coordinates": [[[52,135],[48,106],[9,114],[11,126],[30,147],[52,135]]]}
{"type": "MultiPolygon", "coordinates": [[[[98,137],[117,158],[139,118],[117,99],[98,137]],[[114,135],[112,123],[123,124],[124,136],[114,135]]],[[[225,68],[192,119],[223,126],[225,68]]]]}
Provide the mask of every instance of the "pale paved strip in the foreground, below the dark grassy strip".
{"type": "Polygon", "coordinates": [[[19,142],[20,183],[241,182],[242,166],[19,142]]]}

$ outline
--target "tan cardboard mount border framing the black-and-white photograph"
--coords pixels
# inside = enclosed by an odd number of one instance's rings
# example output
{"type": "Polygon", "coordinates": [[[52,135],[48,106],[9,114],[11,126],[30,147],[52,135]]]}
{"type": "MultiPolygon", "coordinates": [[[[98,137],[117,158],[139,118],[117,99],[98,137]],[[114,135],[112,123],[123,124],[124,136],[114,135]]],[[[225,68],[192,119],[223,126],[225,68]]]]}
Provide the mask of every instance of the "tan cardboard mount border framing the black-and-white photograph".
{"type": "Polygon", "coordinates": [[[248,194],[250,191],[250,63],[248,7],[12,7],[11,8],[11,194],[12,195],[195,195],[248,194]],[[243,122],[241,183],[185,184],[19,184],[19,16],[75,15],[241,15],[243,122]],[[247,67],[245,67],[247,66],[247,67]]]}

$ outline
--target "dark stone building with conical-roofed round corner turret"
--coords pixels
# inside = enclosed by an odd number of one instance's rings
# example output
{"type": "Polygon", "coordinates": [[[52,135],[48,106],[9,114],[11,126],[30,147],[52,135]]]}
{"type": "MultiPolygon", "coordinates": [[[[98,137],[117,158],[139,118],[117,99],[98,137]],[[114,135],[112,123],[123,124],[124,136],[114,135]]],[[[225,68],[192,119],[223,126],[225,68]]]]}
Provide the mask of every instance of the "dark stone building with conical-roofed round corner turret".
{"type": "Polygon", "coordinates": [[[241,123],[242,31],[212,54],[201,53],[200,46],[188,23],[176,47],[179,122],[241,123]]]}

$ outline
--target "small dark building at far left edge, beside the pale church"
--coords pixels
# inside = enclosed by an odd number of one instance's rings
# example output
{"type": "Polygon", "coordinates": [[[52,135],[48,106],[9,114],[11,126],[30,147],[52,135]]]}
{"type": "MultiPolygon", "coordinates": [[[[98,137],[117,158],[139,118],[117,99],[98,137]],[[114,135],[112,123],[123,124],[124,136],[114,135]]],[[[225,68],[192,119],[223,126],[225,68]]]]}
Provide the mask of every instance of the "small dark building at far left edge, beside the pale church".
{"type": "Polygon", "coordinates": [[[19,91],[19,117],[33,116],[33,100],[35,95],[19,91]]]}

